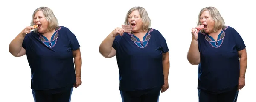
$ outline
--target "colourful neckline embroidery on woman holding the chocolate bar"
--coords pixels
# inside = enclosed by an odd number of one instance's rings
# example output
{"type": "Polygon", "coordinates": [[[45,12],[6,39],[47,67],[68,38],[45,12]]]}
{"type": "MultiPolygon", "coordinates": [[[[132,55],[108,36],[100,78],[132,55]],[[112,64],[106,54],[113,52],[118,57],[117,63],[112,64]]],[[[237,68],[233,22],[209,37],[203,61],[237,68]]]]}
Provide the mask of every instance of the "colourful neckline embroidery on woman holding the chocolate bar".
{"type": "Polygon", "coordinates": [[[134,41],[134,44],[137,47],[144,48],[148,45],[148,41],[151,37],[150,32],[152,32],[152,31],[153,31],[153,29],[150,28],[148,30],[148,33],[146,33],[146,35],[143,37],[142,41],[140,41],[140,39],[138,37],[134,36],[134,34],[132,34],[132,33],[128,33],[128,34],[131,35],[131,40],[134,41]]]}

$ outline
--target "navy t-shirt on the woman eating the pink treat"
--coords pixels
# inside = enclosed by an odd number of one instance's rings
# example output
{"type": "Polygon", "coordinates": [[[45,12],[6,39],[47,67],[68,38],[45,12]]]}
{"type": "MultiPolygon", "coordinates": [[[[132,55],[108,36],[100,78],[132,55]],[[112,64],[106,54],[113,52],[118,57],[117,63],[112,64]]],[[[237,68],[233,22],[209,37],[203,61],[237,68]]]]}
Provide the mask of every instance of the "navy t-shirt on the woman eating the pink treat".
{"type": "Polygon", "coordinates": [[[201,63],[198,67],[198,89],[216,93],[230,91],[238,85],[238,51],[246,46],[239,33],[224,26],[215,41],[206,33],[198,33],[201,63]]]}

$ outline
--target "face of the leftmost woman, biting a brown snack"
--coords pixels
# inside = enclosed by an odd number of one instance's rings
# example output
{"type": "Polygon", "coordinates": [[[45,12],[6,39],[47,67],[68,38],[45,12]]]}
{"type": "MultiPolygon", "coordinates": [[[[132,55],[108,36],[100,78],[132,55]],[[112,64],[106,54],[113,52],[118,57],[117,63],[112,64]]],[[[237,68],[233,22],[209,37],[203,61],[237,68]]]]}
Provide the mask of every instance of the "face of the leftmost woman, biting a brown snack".
{"type": "Polygon", "coordinates": [[[34,16],[34,24],[38,25],[38,32],[39,33],[46,33],[48,28],[48,21],[44,17],[44,14],[42,11],[36,12],[34,16]]]}

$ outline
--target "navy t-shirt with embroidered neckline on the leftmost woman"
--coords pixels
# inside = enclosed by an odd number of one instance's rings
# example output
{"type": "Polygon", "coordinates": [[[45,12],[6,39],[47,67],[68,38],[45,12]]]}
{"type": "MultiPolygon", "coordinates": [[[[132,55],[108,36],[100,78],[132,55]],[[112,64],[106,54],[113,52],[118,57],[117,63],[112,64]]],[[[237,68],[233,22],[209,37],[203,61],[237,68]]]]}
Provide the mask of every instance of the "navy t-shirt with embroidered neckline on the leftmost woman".
{"type": "Polygon", "coordinates": [[[80,45],[68,28],[56,28],[50,41],[33,31],[25,36],[22,47],[31,69],[32,89],[60,88],[76,82],[72,50],[80,45]]]}

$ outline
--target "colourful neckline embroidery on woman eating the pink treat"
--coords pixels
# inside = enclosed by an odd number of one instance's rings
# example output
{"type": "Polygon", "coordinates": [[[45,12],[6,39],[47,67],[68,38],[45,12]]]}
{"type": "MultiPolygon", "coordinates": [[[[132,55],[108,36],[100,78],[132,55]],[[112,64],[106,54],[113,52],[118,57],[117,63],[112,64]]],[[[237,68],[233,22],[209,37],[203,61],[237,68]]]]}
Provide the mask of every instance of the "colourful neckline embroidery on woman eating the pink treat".
{"type": "Polygon", "coordinates": [[[209,42],[209,44],[212,47],[218,48],[221,46],[221,44],[224,41],[224,37],[226,35],[226,33],[224,32],[226,29],[228,28],[228,26],[224,26],[224,28],[222,28],[221,33],[218,35],[218,39],[215,41],[215,39],[212,38],[212,36],[209,36],[206,33],[202,33],[205,35],[205,39],[209,42]]]}

